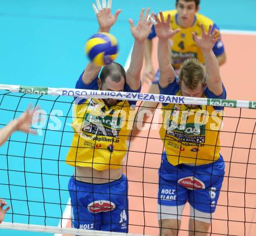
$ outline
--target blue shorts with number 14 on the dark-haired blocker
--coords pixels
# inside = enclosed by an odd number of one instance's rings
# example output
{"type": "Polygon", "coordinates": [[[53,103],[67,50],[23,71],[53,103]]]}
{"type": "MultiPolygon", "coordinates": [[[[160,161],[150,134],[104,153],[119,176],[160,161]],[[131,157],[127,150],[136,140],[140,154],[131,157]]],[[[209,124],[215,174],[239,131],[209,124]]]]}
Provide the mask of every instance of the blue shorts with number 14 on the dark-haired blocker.
{"type": "Polygon", "coordinates": [[[69,180],[72,227],[127,233],[128,181],[126,176],[106,184],[69,180]]]}

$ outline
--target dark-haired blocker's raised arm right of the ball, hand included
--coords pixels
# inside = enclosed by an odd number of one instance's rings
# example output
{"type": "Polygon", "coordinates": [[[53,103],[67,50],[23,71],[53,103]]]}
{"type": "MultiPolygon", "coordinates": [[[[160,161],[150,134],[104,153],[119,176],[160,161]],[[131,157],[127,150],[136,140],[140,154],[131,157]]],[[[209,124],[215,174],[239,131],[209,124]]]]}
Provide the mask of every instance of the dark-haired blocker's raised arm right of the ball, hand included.
{"type": "Polygon", "coordinates": [[[131,34],[134,37],[133,52],[131,53],[131,62],[129,69],[126,73],[126,83],[132,90],[140,88],[140,75],[143,66],[145,40],[150,34],[152,23],[148,19],[150,9],[146,10],[145,16],[144,9],[140,12],[140,19],[138,25],[134,26],[133,20],[129,19],[131,34]]]}

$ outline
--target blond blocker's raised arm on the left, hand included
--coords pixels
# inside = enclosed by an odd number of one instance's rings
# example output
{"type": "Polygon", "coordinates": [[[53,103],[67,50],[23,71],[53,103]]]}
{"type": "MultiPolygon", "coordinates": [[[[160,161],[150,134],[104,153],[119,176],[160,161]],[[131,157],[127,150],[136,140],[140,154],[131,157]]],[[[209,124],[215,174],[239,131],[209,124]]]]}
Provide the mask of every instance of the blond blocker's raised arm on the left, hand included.
{"type": "Polygon", "coordinates": [[[159,12],[160,19],[154,15],[157,24],[155,25],[155,32],[157,33],[158,40],[158,63],[160,70],[159,85],[162,88],[167,87],[175,79],[175,71],[170,61],[171,52],[169,47],[169,38],[179,32],[179,29],[172,30],[170,27],[170,15],[168,15],[165,22],[163,13],[159,12]]]}

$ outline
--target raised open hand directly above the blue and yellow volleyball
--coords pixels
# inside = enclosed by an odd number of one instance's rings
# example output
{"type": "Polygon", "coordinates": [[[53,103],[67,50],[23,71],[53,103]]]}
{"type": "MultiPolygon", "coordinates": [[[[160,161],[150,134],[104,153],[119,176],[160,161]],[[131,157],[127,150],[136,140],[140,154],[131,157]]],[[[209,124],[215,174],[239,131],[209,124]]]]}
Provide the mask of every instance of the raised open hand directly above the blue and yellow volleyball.
{"type": "Polygon", "coordinates": [[[115,15],[112,15],[111,12],[111,5],[112,0],[108,1],[108,6],[106,6],[106,0],[102,0],[102,6],[99,0],[96,0],[97,7],[94,3],[91,5],[93,6],[94,12],[97,16],[98,24],[100,27],[100,31],[109,32],[110,28],[115,24],[116,20],[118,19],[118,15],[120,14],[121,10],[118,9],[115,15]]]}

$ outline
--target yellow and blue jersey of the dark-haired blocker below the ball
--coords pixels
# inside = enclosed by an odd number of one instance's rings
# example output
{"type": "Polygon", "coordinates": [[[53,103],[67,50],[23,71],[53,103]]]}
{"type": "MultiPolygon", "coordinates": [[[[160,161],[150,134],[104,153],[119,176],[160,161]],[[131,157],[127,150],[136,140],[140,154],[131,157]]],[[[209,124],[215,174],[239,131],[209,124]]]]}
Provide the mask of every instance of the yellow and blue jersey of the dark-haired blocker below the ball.
{"type": "MultiPolygon", "coordinates": [[[[95,78],[86,85],[81,79],[76,88],[98,90],[95,78]]],[[[125,84],[125,91],[133,91],[125,84]]],[[[83,99],[74,105],[72,145],[66,163],[95,170],[120,169],[127,152],[126,141],[133,128],[136,102],[118,101],[109,107],[102,99],[83,99]]]]}

